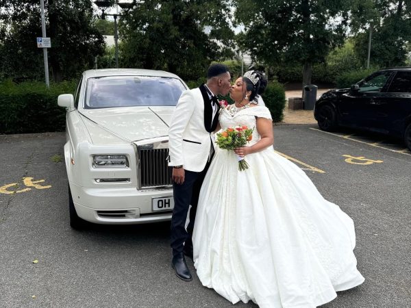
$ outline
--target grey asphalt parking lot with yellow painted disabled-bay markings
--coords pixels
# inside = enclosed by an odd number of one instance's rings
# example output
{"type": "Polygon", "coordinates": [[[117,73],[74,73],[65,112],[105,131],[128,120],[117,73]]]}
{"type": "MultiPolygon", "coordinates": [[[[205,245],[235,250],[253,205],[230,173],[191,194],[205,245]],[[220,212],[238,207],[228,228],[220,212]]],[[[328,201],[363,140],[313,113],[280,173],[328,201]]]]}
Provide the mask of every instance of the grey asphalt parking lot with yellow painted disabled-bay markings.
{"type": "MultiPolygon", "coordinates": [[[[322,307],[411,307],[411,153],[316,128],[274,127],[275,151],[353,218],[366,279],[322,307]]],[[[69,227],[64,138],[0,136],[0,307],[232,307],[175,277],[168,223],[69,227]]]]}

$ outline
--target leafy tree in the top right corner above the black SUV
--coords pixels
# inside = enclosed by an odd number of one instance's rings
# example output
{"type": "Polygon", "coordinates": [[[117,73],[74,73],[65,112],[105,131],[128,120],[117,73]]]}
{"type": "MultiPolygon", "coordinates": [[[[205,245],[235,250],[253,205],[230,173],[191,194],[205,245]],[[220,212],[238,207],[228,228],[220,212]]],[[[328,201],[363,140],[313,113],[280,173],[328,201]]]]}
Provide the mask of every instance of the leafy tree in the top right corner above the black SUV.
{"type": "Polygon", "coordinates": [[[353,7],[351,28],[358,57],[365,63],[371,40],[371,64],[401,66],[411,42],[411,1],[358,0],[353,7]]]}

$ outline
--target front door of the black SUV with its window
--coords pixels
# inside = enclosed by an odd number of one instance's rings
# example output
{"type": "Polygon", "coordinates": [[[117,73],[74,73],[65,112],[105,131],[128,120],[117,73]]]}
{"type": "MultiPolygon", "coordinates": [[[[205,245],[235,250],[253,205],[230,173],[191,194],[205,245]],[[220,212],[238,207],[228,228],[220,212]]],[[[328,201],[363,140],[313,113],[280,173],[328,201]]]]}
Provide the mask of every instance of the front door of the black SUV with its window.
{"type": "Polygon", "coordinates": [[[392,71],[374,73],[358,83],[359,90],[350,90],[343,94],[338,104],[340,124],[378,130],[377,101],[385,101],[386,89],[392,77],[392,71]]]}

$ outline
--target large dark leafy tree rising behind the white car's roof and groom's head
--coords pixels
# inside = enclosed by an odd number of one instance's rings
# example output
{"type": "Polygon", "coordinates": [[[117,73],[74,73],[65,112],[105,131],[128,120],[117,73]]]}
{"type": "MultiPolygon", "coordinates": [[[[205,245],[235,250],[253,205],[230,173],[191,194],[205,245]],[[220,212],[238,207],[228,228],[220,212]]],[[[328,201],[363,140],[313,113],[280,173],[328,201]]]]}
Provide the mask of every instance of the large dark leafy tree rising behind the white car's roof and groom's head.
{"type": "Polygon", "coordinates": [[[121,65],[168,70],[186,80],[233,55],[228,1],[151,0],[119,19],[121,65]]]}

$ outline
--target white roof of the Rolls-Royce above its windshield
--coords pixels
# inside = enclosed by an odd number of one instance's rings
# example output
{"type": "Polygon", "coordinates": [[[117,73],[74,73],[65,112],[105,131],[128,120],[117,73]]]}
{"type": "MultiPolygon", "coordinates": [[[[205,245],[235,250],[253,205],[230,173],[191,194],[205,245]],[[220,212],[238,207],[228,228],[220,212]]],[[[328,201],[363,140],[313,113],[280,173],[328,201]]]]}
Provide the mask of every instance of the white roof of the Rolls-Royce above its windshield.
{"type": "Polygon", "coordinates": [[[146,70],[142,68],[101,68],[98,70],[86,70],[83,75],[86,78],[129,75],[179,78],[177,75],[164,70],[146,70]]]}

